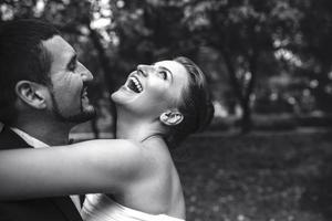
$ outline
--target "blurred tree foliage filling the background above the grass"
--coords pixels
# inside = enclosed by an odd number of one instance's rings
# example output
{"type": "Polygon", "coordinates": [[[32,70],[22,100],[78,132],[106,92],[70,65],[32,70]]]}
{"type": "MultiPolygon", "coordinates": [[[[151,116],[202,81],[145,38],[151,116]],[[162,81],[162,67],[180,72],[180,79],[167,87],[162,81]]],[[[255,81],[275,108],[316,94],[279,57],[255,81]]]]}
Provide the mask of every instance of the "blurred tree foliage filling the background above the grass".
{"type": "MultiPolygon", "coordinates": [[[[6,0],[0,22],[54,23],[106,99],[139,63],[186,55],[229,114],[332,110],[329,0],[6,0]]],[[[98,103],[98,102],[96,102],[98,103]]]]}

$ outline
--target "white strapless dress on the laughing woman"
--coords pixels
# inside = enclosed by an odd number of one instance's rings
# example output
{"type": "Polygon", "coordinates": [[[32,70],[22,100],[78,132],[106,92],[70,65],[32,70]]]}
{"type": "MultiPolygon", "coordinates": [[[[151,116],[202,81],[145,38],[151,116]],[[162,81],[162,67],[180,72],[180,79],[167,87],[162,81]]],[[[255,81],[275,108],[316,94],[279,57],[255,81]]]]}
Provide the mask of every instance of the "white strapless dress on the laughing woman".
{"type": "Polygon", "coordinates": [[[86,194],[81,215],[84,221],[185,221],[126,208],[103,193],[86,194]]]}

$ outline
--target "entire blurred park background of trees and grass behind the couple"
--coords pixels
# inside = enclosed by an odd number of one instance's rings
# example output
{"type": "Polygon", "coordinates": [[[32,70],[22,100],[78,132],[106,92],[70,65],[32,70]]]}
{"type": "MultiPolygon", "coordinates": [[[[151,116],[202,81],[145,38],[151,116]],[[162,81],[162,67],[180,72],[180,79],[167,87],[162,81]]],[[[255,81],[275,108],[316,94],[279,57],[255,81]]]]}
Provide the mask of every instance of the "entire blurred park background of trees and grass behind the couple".
{"type": "Polygon", "coordinates": [[[332,1],[0,1],[18,18],[52,22],[94,74],[76,139],[113,137],[108,97],[137,64],[201,66],[215,118],[175,154],[188,220],[331,220],[332,1]]]}

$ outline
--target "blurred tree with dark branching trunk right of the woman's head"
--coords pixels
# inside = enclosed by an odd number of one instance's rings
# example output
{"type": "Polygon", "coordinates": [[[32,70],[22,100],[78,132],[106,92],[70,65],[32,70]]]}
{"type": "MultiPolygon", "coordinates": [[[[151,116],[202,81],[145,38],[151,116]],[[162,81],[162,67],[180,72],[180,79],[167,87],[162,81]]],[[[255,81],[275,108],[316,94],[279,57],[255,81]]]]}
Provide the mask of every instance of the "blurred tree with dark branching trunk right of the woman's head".
{"type": "MultiPolygon", "coordinates": [[[[299,30],[301,13],[288,0],[187,0],[186,21],[195,38],[219,51],[242,108],[241,128],[251,128],[250,103],[261,63],[299,30]]],[[[271,57],[271,56],[270,56],[271,57]]],[[[269,60],[271,61],[271,60],[269,60]]]]}

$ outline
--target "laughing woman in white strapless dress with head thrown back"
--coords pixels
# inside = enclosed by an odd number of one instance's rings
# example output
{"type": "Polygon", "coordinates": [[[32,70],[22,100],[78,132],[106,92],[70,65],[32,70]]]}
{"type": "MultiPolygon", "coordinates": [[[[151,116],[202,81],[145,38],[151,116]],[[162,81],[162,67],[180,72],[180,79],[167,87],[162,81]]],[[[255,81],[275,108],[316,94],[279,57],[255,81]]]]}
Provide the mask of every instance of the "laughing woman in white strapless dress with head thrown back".
{"type": "Polygon", "coordinates": [[[138,65],[112,99],[117,139],[1,151],[0,200],[107,192],[86,197],[84,220],[185,220],[169,148],[211,119],[201,71],[186,57],[138,65]]]}

